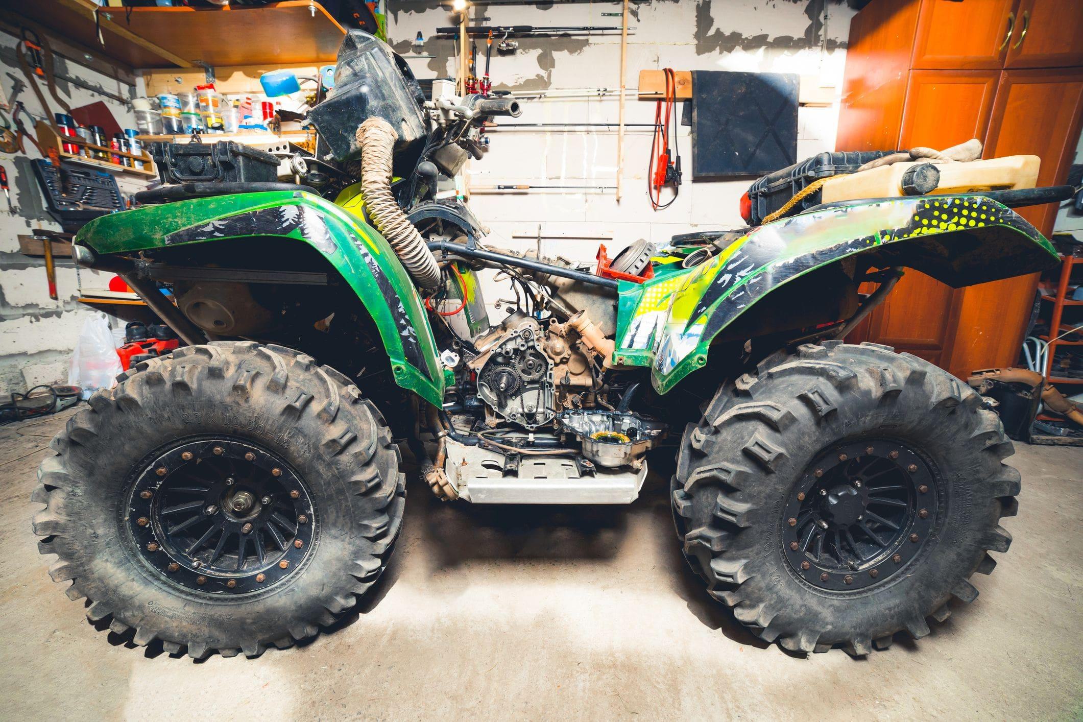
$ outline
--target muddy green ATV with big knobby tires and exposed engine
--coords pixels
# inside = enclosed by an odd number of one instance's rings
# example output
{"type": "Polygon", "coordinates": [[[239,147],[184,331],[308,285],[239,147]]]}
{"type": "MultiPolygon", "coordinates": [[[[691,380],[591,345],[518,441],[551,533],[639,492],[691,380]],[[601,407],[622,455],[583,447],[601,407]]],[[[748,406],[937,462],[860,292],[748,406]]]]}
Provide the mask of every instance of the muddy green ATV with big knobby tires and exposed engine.
{"type": "Polygon", "coordinates": [[[958,287],[1055,264],[1008,208],[1041,189],[820,206],[598,273],[486,247],[436,198],[514,100],[426,100],[356,31],[336,83],[297,184],[164,185],[76,238],[188,344],[92,396],[41,464],[34,531],[90,619],[196,658],[317,634],[388,563],[397,442],[471,503],[630,503],[649,452],[676,454],[689,564],[786,649],[867,654],[977,596],[1019,493],[996,415],[840,339],[903,267],[958,287]],[[514,288],[496,326],[486,268],[514,288]]]}

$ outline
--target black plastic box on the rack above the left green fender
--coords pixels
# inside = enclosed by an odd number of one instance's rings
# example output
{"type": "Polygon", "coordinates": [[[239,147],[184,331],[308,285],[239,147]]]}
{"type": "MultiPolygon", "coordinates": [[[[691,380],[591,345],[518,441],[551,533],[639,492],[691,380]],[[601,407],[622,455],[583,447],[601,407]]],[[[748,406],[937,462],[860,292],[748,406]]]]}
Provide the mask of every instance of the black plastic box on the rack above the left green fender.
{"type": "Polygon", "coordinates": [[[240,143],[151,143],[162,183],[264,183],[278,180],[278,159],[240,143]]]}

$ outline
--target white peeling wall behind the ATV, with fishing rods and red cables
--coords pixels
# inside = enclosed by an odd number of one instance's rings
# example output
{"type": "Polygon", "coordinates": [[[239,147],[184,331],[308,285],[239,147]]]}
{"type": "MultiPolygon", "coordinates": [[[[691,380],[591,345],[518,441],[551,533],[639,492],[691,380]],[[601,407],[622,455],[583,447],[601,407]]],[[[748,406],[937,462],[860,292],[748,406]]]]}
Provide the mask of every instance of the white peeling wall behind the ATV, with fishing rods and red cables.
{"type": "MultiPolygon", "coordinates": [[[[402,0],[388,3],[388,35],[403,54],[416,51],[410,42],[420,30],[427,39],[425,54],[435,58],[409,60],[419,78],[454,77],[454,41],[435,38],[439,26],[452,25],[445,9],[432,2],[402,0]]],[[[838,120],[837,96],[843,84],[844,49],[853,11],[845,3],[820,0],[653,0],[631,3],[639,17],[628,37],[626,84],[635,88],[639,70],[673,67],[680,70],[742,70],[796,73],[819,78],[820,86],[833,89],[836,102],[831,107],[801,107],[798,111],[797,158],[833,150],[838,120]],[[811,8],[811,10],[810,10],[811,8]],[[809,14],[825,24],[813,28],[809,14]],[[806,39],[808,38],[808,39],[806,39]]],[[[475,14],[492,19],[491,25],[615,25],[619,17],[603,16],[619,12],[618,2],[553,4],[549,10],[529,5],[479,5],[475,14]]],[[[619,86],[619,32],[575,38],[519,38],[521,49],[514,55],[497,55],[494,50],[492,77],[494,88],[525,91],[546,88],[550,91],[619,86]],[[586,40],[587,42],[584,42],[586,40]]],[[[480,53],[484,40],[479,41],[480,53]]],[[[479,63],[482,71],[483,56],[479,63]]],[[[559,92],[553,92],[558,95],[559,92]]],[[[524,111],[507,122],[615,122],[617,100],[604,97],[548,97],[525,101],[524,111]]],[[[626,100],[626,121],[652,122],[654,102],[626,100]]],[[[593,129],[557,131],[508,130],[492,133],[486,157],[472,161],[469,178],[474,185],[615,185],[615,130],[593,129]]],[[[542,225],[542,250],[575,260],[592,260],[597,238],[562,239],[570,234],[598,235],[605,240],[612,257],[616,250],[638,238],[655,242],[674,234],[696,228],[743,225],[738,204],[754,178],[733,181],[692,181],[692,148],[689,131],[679,129],[684,183],[677,201],[668,209],[654,211],[647,196],[647,163],[651,149],[649,128],[629,129],[625,136],[624,198],[618,204],[613,191],[561,193],[530,192],[517,194],[477,193],[470,206],[493,234],[495,246],[533,248],[536,240],[518,235],[536,235],[542,225]]],[[[498,290],[485,288],[492,302],[498,290]]],[[[505,294],[506,296],[506,294],[505,294]]],[[[491,315],[494,315],[491,311],[491,315]]],[[[494,315],[494,319],[503,317],[494,315]]]]}

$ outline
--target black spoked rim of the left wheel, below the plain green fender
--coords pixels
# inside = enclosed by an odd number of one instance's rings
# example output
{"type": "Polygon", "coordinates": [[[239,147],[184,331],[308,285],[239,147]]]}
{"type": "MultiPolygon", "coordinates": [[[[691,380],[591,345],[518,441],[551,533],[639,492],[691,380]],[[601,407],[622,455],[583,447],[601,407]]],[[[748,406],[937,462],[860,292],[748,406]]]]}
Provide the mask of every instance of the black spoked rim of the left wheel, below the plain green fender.
{"type": "Polygon", "coordinates": [[[162,579],[230,596],[295,574],[318,529],[292,469],[230,438],[188,441],[154,457],[131,485],[125,523],[140,559],[162,579]]]}

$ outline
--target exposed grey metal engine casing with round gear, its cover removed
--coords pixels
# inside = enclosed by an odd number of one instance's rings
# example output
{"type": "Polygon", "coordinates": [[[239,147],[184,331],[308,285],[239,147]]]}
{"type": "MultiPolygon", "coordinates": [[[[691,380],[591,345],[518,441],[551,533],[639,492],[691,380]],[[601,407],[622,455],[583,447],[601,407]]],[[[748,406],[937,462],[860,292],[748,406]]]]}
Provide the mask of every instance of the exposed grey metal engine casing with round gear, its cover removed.
{"type": "Polygon", "coordinates": [[[478,373],[478,396],[524,429],[537,429],[554,416],[552,364],[539,339],[537,321],[524,318],[497,343],[478,373]]]}

